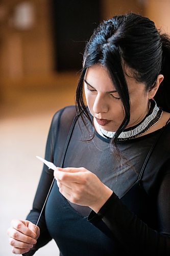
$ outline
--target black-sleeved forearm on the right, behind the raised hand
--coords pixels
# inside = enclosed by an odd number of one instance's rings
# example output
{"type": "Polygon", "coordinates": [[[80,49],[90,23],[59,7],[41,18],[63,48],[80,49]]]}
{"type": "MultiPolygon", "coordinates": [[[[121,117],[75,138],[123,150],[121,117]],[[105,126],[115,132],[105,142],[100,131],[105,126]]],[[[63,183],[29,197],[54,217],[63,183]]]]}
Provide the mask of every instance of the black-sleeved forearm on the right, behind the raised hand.
{"type": "MultiPolygon", "coordinates": [[[[158,230],[153,230],[131,212],[113,193],[99,210],[88,220],[96,227],[102,220],[130,255],[170,254],[170,170],[164,174],[157,197],[158,230]]],[[[110,236],[110,233],[106,235],[110,236]]]]}

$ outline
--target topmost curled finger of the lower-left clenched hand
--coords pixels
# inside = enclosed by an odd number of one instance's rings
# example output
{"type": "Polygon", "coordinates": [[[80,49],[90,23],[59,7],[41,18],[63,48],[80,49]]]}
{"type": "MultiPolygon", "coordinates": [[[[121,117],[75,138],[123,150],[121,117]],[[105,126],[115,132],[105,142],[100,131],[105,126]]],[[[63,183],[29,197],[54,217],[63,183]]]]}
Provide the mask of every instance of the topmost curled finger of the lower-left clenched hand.
{"type": "Polygon", "coordinates": [[[12,220],[11,226],[29,237],[36,238],[36,234],[28,228],[29,221],[12,220]]]}

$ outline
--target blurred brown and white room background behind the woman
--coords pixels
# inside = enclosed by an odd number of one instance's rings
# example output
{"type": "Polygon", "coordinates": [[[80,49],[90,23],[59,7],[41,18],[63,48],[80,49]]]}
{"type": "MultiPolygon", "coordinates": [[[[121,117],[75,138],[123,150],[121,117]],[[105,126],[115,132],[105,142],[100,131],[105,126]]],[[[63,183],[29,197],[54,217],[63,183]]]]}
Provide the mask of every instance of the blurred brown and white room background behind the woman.
{"type": "MultiPolygon", "coordinates": [[[[54,113],[75,103],[82,54],[93,29],[136,12],[170,32],[170,0],[0,1],[0,256],[7,229],[32,207],[54,113]]],[[[59,255],[54,241],[36,255],[59,255]]]]}

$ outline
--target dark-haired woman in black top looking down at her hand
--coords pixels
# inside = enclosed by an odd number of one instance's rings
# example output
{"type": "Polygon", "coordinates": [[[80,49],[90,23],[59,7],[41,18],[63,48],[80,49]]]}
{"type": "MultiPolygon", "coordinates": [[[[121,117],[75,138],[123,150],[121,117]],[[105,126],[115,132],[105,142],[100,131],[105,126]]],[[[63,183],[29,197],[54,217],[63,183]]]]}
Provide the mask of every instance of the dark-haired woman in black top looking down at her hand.
{"type": "Polygon", "coordinates": [[[63,168],[43,167],[27,220],[8,230],[13,253],[53,238],[63,256],[169,255],[169,63],[169,38],[148,18],[118,15],[94,31],[78,115],[58,111],[48,134],[45,159],[63,168]]]}

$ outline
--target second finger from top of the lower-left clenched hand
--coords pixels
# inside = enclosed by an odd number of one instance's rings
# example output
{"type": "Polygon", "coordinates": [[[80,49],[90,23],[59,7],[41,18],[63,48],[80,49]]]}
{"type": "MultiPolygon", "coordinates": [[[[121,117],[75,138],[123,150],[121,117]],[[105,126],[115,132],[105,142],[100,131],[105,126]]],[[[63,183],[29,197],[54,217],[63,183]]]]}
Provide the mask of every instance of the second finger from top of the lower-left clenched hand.
{"type": "Polygon", "coordinates": [[[36,244],[37,240],[33,239],[26,234],[21,233],[20,231],[16,230],[15,228],[9,228],[8,229],[8,236],[10,238],[13,238],[15,240],[25,242],[28,244],[36,244]]]}

